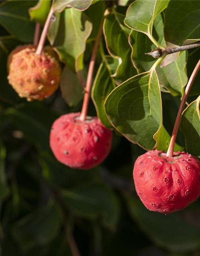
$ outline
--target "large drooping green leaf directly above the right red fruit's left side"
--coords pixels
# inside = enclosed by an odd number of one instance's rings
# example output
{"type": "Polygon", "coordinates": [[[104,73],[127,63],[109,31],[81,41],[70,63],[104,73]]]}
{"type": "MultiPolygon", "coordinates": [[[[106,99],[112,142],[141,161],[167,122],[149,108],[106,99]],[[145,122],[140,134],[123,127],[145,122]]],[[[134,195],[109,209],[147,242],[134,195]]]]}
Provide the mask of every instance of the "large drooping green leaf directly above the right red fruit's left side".
{"type": "Polygon", "coordinates": [[[147,150],[154,146],[162,149],[163,144],[154,140],[154,134],[162,128],[162,102],[155,70],[134,76],[115,88],[106,99],[105,111],[112,125],[128,140],[147,150]]]}

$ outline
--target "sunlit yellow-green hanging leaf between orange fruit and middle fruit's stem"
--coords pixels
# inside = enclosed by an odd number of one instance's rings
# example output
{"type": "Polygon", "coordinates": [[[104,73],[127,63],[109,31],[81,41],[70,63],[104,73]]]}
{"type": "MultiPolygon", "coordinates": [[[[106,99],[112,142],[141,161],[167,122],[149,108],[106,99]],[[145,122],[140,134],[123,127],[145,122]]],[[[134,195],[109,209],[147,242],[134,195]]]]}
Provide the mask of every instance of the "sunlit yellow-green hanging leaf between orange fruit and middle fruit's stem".
{"type": "MultiPolygon", "coordinates": [[[[63,1],[62,1],[63,2],[63,1]]],[[[56,16],[49,29],[50,42],[58,51],[60,59],[76,72],[84,72],[82,54],[86,48],[86,40],[92,31],[92,23],[86,14],[73,8],[66,9],[56,16]],[[56,28],[56,31],[55,31],[56,28]]]]}

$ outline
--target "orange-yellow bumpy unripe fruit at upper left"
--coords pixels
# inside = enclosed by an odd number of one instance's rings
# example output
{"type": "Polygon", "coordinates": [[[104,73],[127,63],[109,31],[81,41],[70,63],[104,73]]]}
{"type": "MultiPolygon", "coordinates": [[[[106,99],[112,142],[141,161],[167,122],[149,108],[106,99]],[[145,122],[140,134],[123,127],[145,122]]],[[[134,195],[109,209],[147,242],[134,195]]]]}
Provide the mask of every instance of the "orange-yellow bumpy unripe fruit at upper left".
{"type": "Polygon", "coordinates": [[[47,51],[42,51],[40,55],[35,51],[35,47],[28,46],[11,53],[9,58],[8,81],[19,96],[28,101],[48,98],[58,88],[60,81],[61,68],[56,58],[47,51]]]}

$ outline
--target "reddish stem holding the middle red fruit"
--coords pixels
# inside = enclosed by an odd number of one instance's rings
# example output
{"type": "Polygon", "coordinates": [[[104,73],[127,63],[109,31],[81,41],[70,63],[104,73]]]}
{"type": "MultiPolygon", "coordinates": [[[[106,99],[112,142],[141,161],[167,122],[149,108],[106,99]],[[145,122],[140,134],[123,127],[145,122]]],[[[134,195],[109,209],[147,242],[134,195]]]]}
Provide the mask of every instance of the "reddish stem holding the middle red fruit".
{"type": "Polygon", "coordinates": [[[90,60],[90,64],[89,64],[89,68],[88,68],[88,76],[87,76],[87,80],[86,80],[83,106],[82,106],[82,110],[81,110],[81,114],[80,114],[80,118],[79,118],[81,121],[85,121],[86,115],[88,112],[88,104],[89,104],[89,100],[90,100],[90,89],[91,89],[91,84],[92,84],[92,75],[94,72],[94,65],[95,65],[95,61],[96,61],[96,54],[97,54],[98,46],[99,46],[100,39],[101,39],[102,32],[103,32],[103,24],[104,24],[104,18],[100,24],[98,34],[96,36],[96,40],[94,42],[94,47],[92,50],[92,57],[90,60]]]}

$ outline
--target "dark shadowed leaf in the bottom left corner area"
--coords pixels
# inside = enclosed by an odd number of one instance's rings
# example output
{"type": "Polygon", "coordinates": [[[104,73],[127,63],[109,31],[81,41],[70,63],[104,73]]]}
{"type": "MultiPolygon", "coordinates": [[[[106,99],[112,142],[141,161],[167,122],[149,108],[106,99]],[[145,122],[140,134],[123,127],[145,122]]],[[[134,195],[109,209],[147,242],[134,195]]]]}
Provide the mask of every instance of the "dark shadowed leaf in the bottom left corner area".
{"type": "Polygon", "coordinates": [[[14,223],[12,235],[25,249],[51,242],[60,230],[60,210],[54,202],[14,223]]]}

